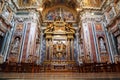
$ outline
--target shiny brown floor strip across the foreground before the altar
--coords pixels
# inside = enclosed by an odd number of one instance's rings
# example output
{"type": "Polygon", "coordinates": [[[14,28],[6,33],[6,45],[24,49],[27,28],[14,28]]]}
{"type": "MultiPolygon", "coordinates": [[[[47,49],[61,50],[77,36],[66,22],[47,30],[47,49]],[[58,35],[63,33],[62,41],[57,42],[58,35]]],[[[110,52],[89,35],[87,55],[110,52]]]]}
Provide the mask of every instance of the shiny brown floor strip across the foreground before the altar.
{"type": "Polygon", "coordinates": [[[120,80],[120,73],[0,73],[0,80],[120,80]]]}

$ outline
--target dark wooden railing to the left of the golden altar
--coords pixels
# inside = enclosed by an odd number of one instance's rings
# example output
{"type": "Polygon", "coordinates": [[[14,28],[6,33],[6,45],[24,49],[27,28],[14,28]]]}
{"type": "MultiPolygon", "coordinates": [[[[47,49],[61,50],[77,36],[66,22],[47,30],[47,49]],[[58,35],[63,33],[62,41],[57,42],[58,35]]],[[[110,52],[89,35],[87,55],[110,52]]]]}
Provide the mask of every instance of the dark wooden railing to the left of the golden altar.
{"type": "Polygon", "coordinates": [[[3,63],[0,64],[1,72],[24,72],[24,73],[37,73],[43,71],[42,65],[34,63],[3,63]]]}

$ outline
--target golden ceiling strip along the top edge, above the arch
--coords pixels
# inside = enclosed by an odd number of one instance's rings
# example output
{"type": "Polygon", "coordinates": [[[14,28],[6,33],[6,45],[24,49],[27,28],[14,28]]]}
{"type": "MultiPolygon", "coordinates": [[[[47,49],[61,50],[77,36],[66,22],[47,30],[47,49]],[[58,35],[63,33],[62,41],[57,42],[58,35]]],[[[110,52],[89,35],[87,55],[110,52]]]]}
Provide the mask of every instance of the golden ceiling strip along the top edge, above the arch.
{"type": "Polygon", "coordinates": [[[16,5],[22,8],[50,8],[56,5],[64,5],[69,8],[98,9],[108,0],[13,0],[16,5]]]}

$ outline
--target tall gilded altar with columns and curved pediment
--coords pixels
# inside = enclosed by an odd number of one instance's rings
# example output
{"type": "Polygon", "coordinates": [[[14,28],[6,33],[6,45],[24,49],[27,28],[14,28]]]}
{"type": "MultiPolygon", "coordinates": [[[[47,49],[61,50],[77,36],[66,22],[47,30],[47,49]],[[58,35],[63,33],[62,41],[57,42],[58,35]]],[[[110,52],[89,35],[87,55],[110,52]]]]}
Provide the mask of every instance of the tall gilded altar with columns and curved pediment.
{"type": "Polygon", "coordinates": [[[67,70],[74,60],[75,29],[71,23],[58,19],[49,23],[44,31],[46,38],[45,65],[51,70],[67,70]]]}

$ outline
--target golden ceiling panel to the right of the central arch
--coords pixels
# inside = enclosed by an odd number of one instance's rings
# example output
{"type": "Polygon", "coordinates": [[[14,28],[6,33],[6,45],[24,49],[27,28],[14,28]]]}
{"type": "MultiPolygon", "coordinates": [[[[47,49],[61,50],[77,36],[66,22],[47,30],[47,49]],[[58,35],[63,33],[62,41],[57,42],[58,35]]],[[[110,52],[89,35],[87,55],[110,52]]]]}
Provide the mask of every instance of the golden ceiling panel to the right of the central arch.
{"type": "Polygon", "coordinates": [[[101,8],[106,0],[83,0],[83,8],[101,8]]]}

